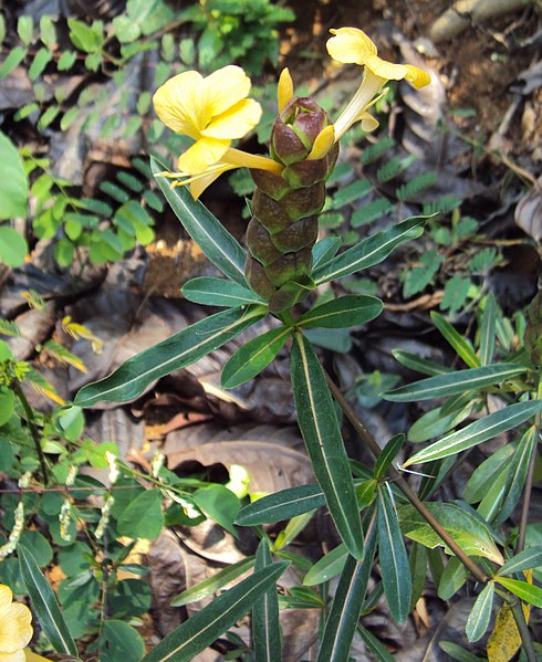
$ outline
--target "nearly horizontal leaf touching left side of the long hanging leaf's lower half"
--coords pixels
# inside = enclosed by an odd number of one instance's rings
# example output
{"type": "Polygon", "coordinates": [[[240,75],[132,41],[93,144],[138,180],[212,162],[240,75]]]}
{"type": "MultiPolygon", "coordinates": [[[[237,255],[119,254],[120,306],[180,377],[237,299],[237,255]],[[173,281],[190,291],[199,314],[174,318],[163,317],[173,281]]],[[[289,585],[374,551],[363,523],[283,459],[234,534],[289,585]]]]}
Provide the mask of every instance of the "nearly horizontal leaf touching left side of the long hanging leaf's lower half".
{"type": "Polygon", "coordinates": [[[303,515],[325,505],[324,493],[320,485],[300,485],[288,487],[274,494],[262,496],[241,508],[236,517],[239,526],[274,524],[303,515]]]}

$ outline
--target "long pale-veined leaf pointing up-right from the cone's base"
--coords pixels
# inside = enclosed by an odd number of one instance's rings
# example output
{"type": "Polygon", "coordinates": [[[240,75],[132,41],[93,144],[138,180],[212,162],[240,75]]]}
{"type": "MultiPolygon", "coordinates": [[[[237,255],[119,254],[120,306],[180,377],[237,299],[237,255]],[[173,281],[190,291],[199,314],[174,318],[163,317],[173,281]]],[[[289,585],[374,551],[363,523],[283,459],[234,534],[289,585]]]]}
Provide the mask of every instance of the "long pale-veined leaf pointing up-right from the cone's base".
{"type": "Polygon", "coordinates": [[[420,237],[424,233],[423,225],[428,218],[413,217],[393,228],[371,235],[316,269],[312,274],[313,280],[316,285],[320,285],[378,264],[402,243],[420,237]]]}

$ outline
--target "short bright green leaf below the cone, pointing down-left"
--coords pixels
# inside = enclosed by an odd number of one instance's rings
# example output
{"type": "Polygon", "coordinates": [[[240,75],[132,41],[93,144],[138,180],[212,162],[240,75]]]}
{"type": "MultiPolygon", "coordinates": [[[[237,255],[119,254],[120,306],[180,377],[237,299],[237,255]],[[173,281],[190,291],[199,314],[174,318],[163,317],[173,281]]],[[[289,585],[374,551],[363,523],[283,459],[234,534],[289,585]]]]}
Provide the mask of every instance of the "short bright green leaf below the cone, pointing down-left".
{"type": "Polygon", "coordinates": [[[240,347],[222,368],[223,388],[236,388],[259,375],[284,347],[292,332],[286,326],[272,328],[240,347]]]}

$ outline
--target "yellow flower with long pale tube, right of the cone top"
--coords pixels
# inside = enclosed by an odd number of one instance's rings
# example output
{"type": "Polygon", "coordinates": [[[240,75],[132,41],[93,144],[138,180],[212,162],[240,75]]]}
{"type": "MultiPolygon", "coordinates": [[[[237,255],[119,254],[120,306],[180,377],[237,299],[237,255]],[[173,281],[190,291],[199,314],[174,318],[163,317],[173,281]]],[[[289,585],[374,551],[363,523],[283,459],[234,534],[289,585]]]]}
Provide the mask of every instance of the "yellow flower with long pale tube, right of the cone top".
{"type": "MultiPolygon", "coordinates": [[[[415,87],[424,87],[431,82],[428,73],[411,64],[393,64],[377,55],[376,45],[357,28],[340,28],[330,31],[334,36],[327,41],[327,52],[342,64],[359,64],[365,73],[359,88],[335,123],[335,140],[355,123],[362,120],[365,130],[378,126],[367,113],[379,98],[374,98],[388,81],[405,78],[415,87]]],[[[382,95],[381,95],[382,96],[382,95]]]]}

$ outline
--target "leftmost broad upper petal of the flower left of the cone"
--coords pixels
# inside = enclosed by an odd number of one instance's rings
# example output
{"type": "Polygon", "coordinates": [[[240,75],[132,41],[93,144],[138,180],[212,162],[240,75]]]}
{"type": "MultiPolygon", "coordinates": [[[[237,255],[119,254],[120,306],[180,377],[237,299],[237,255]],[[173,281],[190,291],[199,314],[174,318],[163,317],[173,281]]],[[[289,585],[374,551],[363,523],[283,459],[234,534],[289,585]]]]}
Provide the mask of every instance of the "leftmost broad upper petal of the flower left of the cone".
{"type": "Polygon", "coordinates": [[[204,97],[201,74],[186,71],[158,87],[153,103],[156,114],[167,127],[197,139],[212,116],[204,97]]]}

